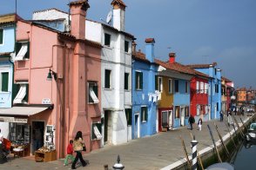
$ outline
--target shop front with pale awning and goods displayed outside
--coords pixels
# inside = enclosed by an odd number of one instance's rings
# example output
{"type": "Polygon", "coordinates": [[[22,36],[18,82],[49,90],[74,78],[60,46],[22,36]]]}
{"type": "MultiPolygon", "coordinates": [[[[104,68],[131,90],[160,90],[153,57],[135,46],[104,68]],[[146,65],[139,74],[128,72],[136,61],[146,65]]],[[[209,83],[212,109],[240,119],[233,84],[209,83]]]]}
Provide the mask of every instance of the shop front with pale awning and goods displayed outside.
{"type": "Polygon", "coordinates": [[[51,132],[52,128],[45,125],[44,120],[30,121],[31,116],[43,113],[44,110],[51,107],[51,105],[43,105],[0,108],[2,134],[5,139],[10,141],[10,151],[14,156],[29,156],[45,144],[53,143],[51,141],[54,133],[51,132]],[[49,142],[47,143],[45,140],[49,142]]]}

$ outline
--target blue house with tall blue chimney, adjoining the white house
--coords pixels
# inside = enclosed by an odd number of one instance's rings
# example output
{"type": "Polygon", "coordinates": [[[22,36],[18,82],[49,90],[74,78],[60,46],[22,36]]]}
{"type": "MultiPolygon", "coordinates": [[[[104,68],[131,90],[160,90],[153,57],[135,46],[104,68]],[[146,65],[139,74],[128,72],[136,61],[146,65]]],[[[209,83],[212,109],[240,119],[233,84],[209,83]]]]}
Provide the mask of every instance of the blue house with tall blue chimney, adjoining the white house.
{"type": "Polygon", "coordinates": [[[157,97],[155,76],[158,66],[154,63],[154,39],[145,39],[145,54],[136,51],[132,56],[132,121],[131,138],[137,139],[157,133],[157,97]]]}

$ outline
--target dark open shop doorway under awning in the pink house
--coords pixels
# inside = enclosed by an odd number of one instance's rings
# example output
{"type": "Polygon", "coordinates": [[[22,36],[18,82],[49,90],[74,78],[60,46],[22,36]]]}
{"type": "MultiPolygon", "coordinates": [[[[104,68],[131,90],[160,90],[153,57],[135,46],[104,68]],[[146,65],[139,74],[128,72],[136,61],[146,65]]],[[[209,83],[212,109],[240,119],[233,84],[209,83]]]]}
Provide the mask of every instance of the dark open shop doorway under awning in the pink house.
{"type": "Polygon", "coordinates": [[[44,121],[32,121],[32,154],[44,146],[44,121]]]}

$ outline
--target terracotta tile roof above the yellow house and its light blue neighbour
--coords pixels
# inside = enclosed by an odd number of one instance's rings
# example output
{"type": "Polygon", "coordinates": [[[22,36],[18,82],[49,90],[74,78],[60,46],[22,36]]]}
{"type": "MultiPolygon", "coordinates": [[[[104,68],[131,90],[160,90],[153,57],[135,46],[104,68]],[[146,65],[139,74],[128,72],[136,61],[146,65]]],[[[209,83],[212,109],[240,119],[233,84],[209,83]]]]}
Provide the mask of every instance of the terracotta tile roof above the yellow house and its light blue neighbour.
{"type": "Polygon", "coordinates": [[[182,65],[178,62],[173,62],[173,63],[163,62],[163,61],[160,61],[158,59],[155,59],[155,62],[157,64],[159,64],[160,66],[163,66],[166,69],[171,69],[171,70],[174,70],[174,71],[178,71],[179,73],[182,73],[182,74],[196,75],[196,72],[195,72],[194,69],[191,69],[191,68],[189,68],[185,65],[182,65]]]}

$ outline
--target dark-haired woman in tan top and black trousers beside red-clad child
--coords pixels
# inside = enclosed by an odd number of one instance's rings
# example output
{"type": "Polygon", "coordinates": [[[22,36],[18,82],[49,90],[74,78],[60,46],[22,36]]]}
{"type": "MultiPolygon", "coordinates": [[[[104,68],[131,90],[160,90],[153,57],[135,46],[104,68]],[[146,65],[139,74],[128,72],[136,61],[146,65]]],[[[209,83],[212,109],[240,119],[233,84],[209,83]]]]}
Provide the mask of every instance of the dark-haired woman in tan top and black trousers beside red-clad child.
{"type": "Polygon", "coordinates": [[[82,156],[82,151],[84,150],[83,147],[85,147],[84,141],[83,141],[83,134],[81,131],[78,131],[73,143],[74,151],[77,153],[75,160],[72,163],[71,169],[76,169],[77,160],[79,159],[82,163],[82,166],[85,167],[87,163],[84,161],[82,156]]]}

